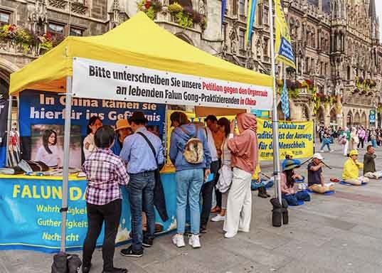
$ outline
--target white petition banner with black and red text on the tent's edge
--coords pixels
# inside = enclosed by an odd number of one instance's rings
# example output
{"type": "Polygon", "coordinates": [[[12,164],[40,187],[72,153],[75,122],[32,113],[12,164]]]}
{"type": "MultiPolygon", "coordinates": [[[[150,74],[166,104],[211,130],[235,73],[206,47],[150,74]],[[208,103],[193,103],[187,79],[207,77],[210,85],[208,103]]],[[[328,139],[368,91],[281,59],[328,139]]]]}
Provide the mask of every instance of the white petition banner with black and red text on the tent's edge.
{"type": "Polygon", "coordinates": [[[272,87],[74,58],[73,95],[169,105],[271,109],[272,87]]]}

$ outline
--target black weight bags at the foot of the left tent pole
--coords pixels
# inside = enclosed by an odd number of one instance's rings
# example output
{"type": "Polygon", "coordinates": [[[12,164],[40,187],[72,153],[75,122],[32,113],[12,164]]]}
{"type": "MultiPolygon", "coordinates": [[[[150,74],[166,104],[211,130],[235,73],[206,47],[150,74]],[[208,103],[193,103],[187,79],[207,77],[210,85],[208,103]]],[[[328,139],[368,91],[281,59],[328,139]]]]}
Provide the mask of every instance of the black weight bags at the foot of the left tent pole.
{"type": "Polygon", "coordinates": [[[78,273],[81,264],[83,263],[78,255],[59,252],[53,256],[52,273],[78,273]]]}

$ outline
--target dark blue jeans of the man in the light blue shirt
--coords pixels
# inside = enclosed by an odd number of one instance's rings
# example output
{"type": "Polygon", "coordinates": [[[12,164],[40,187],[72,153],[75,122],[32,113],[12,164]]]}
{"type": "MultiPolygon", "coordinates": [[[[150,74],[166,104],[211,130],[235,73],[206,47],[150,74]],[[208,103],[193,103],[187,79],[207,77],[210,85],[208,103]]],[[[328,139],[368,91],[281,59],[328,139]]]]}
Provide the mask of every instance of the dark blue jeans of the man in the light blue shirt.
{"type": "Polygon", "coordinates": [[[132,249],[142,250],[142,209],[146,213],[147,232],[145,237],[154,239],[155,214],[154,214],[154,171],[129,174],[130,181],[127,185],[129,193],[130,210],[132,213],[132,249]]]}

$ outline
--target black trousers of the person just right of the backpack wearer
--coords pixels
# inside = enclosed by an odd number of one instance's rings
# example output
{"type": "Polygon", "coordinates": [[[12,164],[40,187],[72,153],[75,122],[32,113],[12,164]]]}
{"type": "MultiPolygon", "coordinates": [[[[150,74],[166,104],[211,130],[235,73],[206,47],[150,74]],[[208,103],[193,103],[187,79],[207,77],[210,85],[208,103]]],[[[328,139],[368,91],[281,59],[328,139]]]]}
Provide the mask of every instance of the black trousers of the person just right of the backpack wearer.
{"type": "MultiPolygon", "coordinates": [[[[218,173],[219,161],[213,161],[211,163],[211,173],[216,177],[218,173]]],[[[206,226],[208,223],[208,218],[210,218],[211,208],[212,208],[212,193],[215,186],[214,181],[204,183],[201,187],[201,198],[203,200],[203,206],[201,208],[201,226],[206,226]]]]}

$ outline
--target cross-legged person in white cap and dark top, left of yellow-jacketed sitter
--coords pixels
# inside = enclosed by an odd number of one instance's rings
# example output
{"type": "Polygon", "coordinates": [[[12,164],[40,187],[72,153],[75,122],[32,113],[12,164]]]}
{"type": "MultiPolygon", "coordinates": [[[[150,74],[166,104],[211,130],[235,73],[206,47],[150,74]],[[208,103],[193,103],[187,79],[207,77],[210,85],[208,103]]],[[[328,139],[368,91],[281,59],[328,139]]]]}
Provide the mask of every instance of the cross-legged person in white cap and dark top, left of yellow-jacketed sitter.
{"type": "Polygon", "coordinates": [[[314,193],[327,193],[334,191],[334,186],[331,183],[324,183],[322,175],[322,161],[324,158],[321,154],[314,154],[312,161],[308,164],[308,189],[314,193]]]}

